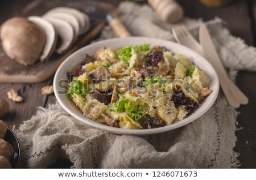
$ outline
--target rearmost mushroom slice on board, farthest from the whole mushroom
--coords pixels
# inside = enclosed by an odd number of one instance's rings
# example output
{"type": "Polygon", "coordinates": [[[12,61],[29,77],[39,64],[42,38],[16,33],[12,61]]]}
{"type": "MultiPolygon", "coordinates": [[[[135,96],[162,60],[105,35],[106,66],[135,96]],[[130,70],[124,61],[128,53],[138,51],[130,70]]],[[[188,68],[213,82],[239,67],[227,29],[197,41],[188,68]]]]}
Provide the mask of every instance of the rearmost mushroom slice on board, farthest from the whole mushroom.
{"type": "MultiPolygon", "coordinates": [[[[79,25],[80,25],[80,32],[79,35],[84,34],[89,28],[88,28],[88,22],[90,22],[88,19],[88,15],[85,13],[77,10],[76,8],[72,7],[55,7],[52,8],[51,10],[47,11],[46,14],[50,14],[53,12],[65,12],[69,14],[73,14],[76,16],[76,18],[79,20],[79,25]],[[87,29],[87,30],[86,30],[87,29]]],[[[90,26],[90,24],[89,24],[90,26]]]]}

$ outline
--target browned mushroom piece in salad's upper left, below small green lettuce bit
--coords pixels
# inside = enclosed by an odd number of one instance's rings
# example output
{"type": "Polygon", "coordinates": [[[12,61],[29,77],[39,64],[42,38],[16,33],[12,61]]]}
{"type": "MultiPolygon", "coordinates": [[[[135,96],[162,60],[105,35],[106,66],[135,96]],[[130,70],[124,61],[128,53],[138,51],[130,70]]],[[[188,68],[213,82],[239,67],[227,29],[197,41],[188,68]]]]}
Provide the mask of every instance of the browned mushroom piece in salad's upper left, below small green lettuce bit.
{"type": "Polygon", "coordinates": [[[100,83],[111,78],[108,68],[104,65],[96,68],[96,70],[89,74],[89,76],[92,78],[94,83],[100,83]]]}

